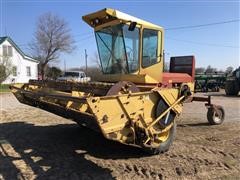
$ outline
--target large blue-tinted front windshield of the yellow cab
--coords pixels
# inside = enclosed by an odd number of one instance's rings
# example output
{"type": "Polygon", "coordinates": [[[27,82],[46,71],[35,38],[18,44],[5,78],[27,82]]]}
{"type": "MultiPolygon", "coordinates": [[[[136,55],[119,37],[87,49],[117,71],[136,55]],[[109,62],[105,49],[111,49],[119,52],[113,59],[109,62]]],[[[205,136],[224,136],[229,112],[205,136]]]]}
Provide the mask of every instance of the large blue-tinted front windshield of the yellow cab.
{"type": "Polygon", "coordinates": [[[128,30],[118,24],[96,31],[96,40],[104,74],[128,74],[139,68],[139,29],[128,30]]]}

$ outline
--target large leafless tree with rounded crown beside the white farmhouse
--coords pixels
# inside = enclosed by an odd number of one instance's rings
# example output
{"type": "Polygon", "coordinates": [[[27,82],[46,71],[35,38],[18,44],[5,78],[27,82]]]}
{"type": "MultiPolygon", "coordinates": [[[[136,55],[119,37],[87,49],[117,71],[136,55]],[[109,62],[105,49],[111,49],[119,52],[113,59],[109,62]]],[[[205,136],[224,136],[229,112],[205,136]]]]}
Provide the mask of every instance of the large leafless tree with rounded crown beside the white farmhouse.
{"type": "Polygon", "coordinates": [[[33,56],[40,60],[40,72],[44,79],[46,65],[56,61],[61,53],[70,53],[74,49],[67,22],[52,13],[40,16],[30,48],[33,56]]]}

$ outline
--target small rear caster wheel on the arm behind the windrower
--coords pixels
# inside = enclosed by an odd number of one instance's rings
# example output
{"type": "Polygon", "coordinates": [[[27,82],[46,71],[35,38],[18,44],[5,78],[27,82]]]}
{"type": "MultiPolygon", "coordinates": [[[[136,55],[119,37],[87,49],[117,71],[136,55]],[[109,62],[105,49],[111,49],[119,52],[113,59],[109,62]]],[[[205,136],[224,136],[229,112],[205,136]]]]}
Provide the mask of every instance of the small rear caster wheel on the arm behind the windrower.
{"type": "Polygon", "coordinates": [[[207,119],[210,125],[219,125],[224,121],[225,112],[221,106],[208,108],[207,119]]]}

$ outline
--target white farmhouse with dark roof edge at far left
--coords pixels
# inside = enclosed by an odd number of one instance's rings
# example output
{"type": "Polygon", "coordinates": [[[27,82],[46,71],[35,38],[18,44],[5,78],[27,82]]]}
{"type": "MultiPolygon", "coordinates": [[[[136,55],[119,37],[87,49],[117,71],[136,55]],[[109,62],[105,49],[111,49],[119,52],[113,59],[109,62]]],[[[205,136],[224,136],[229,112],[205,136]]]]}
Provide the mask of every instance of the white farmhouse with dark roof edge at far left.
{"type": "Polygon", "coordinates": [[[3,58],[11,61],[12,74],[2,83],[27,83],[29,79],[38,79],[38,61],[27,56],[6,36],[0,37],[0,61],[3,58]]]}

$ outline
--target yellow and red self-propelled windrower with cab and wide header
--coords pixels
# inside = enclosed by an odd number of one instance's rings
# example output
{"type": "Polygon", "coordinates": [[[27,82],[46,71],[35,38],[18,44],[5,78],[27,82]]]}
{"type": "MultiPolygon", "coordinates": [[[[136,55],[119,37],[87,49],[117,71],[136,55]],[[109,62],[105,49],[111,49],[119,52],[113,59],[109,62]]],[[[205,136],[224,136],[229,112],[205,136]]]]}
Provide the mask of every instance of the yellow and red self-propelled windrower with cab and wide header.
{"type": "MultiPolygon", "coordinates": [[[[163,72],[162,27],[114,9],[83,16],[95,31],[102,67],[97,82],[30,81],[11,90],[25,104],[70,118],[104,137],[156,154],[169,149],[185,102],[206,102],[210,124],[224,111],[194,94],[194,56],[172,57],[163,72]]],[[[87,137],[86,137],[87,138],[87,137]]]]}

